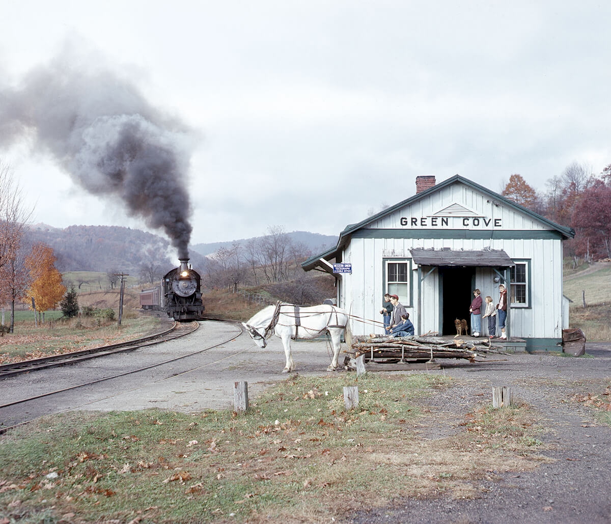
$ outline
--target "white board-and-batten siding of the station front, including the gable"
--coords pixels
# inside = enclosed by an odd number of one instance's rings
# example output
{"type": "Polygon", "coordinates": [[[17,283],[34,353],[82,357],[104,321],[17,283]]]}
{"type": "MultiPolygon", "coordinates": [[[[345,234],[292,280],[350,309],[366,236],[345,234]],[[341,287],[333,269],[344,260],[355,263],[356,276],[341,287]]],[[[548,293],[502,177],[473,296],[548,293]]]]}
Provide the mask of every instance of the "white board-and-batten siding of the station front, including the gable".
{"type": "MultiPolygon", "coordinates": [[[[353,333],[362,335],[382,332],[382,305],[384,288],[384,261],[387,259],[411,260],[410,249],[483,250],[502,249],[514,261],[526,261],[529,268],[529,304],[513,307],[511,335],[520,338],[562,337],[562,240],[551,228],[499,203],[464,184],[454,184],[434,192],[411,205],[395,209],[395,212],[374,220],[351,235],[342,253],[342,260],[352,264],[353,273],[342,276],[340,303],[353,316],[353,333]],[[470,209],[474,217],[500,218],[503,235],[495,235],[494,228],[467,227],[439,229],[401,225],[401,217],[431,217],[448,206],[458,203],[470,209]],[[465,231],[472,238],[464,238],[465,231]],[[529,234],[530,231],[549,231],[551,235],[529,234]],[[510,238],[508,238],[510,237],[510,238]],[[558,277],[557,275],[560,275],[558,277]]],[[[423,276],[431,267],[423,267],[423,276]]],[[[419,325],[418,302],[422,332],[436,331],[441,324],[437,270],[422,282],[422,297],[418,296],[417,266],[412,264],[413,297],[408,307],[410,318],[419,325]]],[[[475,271],[475,286],[483,296],[490,295],[494,303],[499,300],[497,274],[487,267],[475,271]]],[[[468,310],[465,313],[468,316],[468,310]]]]}

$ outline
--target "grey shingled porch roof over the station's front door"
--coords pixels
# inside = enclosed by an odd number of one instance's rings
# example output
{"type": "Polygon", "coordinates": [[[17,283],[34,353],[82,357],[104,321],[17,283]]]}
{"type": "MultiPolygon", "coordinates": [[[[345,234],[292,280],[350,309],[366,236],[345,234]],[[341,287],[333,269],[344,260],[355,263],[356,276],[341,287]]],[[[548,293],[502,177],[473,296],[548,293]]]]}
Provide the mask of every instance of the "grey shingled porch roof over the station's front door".
{"type": "Polygon", "coordinates": [[[412,260],[419,266],[450,267],[512,267],[515,264],[502,249],[451,250],[410,249],[412,260]]]}

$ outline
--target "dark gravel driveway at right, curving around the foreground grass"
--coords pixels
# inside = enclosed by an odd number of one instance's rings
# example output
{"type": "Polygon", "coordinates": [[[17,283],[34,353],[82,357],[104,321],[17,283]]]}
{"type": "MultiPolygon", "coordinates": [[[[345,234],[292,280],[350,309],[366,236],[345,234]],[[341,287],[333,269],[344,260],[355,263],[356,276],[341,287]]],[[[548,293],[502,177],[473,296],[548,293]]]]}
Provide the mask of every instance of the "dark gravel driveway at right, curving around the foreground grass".
{"type": "MultiPolygon", "coordinates": [[[[596,421],[576,394],[600,393],[611,385],[611,344],[588,344],[587,357],[551,354],[489,355],[475,365],[448,363],[441,371],[460,379],[436,395],[431,409],[455,410],[456,420],[474,404],[491,402],[491,387],[511,387],[514,398],[541,413],[554,449],[551,459],[527,473],[502,475],[477,500],[403,499],[390,508],[355,515],[353,524],[375,523],[609,523],[611,522],[611,429],[596,421]]],[[[607,402],[609,399],[607,399],[607,402]]],[[[423,429],[429,438],[448,428],[423,429]]]]}

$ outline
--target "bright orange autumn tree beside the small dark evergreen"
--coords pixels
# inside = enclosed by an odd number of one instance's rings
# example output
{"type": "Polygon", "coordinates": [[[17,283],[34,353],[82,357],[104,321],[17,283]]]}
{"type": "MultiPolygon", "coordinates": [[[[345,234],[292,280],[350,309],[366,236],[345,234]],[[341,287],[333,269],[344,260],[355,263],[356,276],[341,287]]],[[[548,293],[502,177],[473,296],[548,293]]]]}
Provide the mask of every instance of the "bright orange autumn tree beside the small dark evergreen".
{"type": "MultiPolygon", "coordinates": [[[[53,249],[42,243],[34,244],[25,260],[32,282],[26,292],[26,303],[34,298],[38,318],[42,315],[42,322],[45,321],[45,311],[57,307],[66,293],[62,274],[55,267],[56,260],[53,249]]],[[[29,305],[32,308],[31,303],[29,305]]]]}

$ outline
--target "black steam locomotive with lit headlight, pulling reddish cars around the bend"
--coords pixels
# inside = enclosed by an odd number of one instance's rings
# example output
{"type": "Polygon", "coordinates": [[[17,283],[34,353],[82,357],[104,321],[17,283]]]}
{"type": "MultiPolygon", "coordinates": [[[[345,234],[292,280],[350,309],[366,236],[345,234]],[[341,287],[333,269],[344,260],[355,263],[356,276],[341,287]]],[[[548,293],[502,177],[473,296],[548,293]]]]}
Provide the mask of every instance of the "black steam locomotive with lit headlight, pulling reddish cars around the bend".
{"type": "Polygon", "coordinates": [[[180,266],[166,273],[161,285],[140,293],[140,307],[166,311],[176,321],[189,321],[203,314],[202,277],[188,265],[188,258],[180,259],[180,266]]]}

